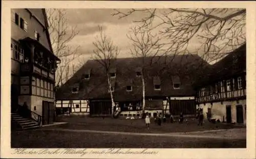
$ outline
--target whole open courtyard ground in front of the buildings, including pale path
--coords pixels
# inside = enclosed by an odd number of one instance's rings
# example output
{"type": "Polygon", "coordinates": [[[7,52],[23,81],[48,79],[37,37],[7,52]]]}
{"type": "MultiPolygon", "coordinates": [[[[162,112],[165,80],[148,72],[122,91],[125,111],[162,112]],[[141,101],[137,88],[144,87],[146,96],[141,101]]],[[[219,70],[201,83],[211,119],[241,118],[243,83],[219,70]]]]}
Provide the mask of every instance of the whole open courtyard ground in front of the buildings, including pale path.
{"type": "Polygon", "coordinates": [[[11,132],[13,148],[245,148],[244,126],[153,121],[150,130],[144,120],[61,117],[66,125],[11,132]],[[223,130],[224,129],[224,130],[223,130]],[[230,137],[230,138],[229,138],[230,137]]]}

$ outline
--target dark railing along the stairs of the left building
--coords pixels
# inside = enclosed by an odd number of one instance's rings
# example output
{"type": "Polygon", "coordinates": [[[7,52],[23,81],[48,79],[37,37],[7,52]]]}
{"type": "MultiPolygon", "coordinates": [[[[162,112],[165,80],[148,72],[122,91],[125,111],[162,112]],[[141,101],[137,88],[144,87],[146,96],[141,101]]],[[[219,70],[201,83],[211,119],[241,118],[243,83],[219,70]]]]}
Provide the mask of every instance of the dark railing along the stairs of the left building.
{"type": "Polygon", "coordinates": [[[21,105],[17,105],[16,112],[24,118],[28,118],[36,121],[38,126],[41,126],[42,116],[38,115],[38,113],[31,111],[30,109],[21,105]]]}

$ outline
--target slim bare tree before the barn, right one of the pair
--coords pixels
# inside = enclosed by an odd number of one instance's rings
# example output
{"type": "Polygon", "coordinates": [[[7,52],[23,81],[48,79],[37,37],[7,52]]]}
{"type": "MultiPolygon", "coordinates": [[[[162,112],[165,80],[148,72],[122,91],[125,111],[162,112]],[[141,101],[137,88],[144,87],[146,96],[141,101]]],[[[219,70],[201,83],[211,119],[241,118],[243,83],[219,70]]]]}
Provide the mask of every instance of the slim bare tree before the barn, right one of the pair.
{"type": "Polygon", "coordinates": [[[142,115],[145,111],[145,70],[153,64],[154,58],[162,51],[163,44],[159,44],[160,38],[152,35],[150,31],[131,28],[127,37],[132,41],[130,54],[141,59],[141,81],[142,81],[142,115]],[[150,62],[148,62],[150,59],[150,62]]]}

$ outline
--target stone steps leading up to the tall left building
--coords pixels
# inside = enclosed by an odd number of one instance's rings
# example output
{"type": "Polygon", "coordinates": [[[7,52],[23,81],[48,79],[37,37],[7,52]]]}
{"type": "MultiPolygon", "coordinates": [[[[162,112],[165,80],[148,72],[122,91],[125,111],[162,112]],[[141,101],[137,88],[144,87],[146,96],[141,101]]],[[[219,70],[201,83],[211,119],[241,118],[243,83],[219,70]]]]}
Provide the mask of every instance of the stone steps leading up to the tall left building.
{"type": "Polygon", "coordinates": [[[11,113],[11,128],[15,130],[27,130],[40,127],[33,119],[24,118],[18,113],[11,113]]]}

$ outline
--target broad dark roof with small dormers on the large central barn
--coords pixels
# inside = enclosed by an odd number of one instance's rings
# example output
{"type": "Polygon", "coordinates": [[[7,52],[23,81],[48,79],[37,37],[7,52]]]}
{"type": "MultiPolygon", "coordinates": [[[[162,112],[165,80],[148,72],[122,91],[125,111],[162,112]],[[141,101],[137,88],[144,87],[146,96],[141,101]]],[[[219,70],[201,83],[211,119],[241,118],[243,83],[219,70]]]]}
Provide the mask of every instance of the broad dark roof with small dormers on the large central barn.
{"type": "MultiPolygon", "coordinates": [[[[115,101],[136,101],[142,98],[141,78],[136,72],[141,68],[145,79],[145,96],[194,96],[192,84],[201,76],[204,67],[209,64],[198,55],[176,55],[167,57],[147,57],[144,59],[146,67],[141,65],[142,58],[118,58],[113,66],[116,77],[115,101]],[[201,65],[203,65],[201,67],[201,65]],[[199,67],[200,66],[200,67],[199,67]],[[180,78],[181,88],[174,89],[172,77],[180,78]],[[154,82],[160,82],[161,90],[154,89],[154,82]],[[132,91],[127,92],[126,86],[132,84],[132,91]]],[[[89,60],[72,78],[60,86],[56,92],[57,100],[70,99],[110,99],[106,74],[103,67],[96,60],[89,60]],[[90,79],[83,79],[83,74],[90,71],[90,79]],[[79,92],[72,93],[75,83],[79,83],[79,92]]]]}

